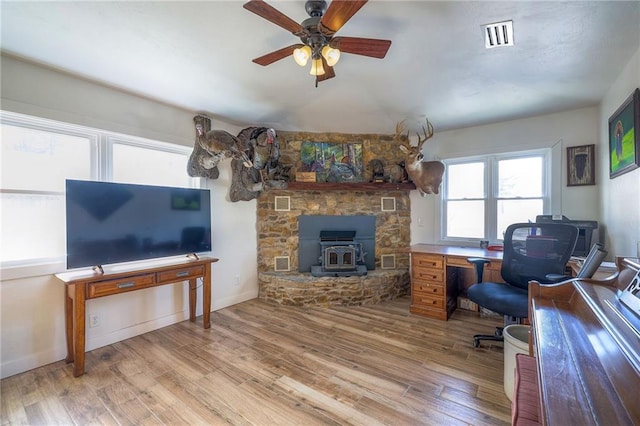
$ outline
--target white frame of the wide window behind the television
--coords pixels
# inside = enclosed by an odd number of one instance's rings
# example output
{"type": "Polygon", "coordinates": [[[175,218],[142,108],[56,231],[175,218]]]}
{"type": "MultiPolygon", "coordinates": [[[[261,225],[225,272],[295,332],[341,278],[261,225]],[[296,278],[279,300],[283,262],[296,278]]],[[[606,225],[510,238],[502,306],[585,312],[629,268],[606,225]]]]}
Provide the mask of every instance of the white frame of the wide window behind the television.
{"type": "MultiPolygon", "coordinates": [[[[113,170],[113,146],[115,144],[134,146],[137,148],[150,149],[155,151],[170,152],[185,155],[189,158],[193,147],[186,145],[172,144],[168,142],[156,141],[138,136],[111,132],[102,129],[81,126],[72,123],[65,123],[57,120],[50,120],[25,114],[19,114],[0,110],[0,124],[25,129],[33,129],[43,132],[60,133],[87,138],[90,147],[90,180],[111,182],[113,170]]],[[[185,164],[185,174],[186,164],[185,164]]],[[[203,179],[190,177],[188,179],[190,188],[204,187],[203,179]]],[[[136,182],[131,182],[136,183],[136,182]]],[[[3,188],[0,185],[0,194],[28,194],[42,196],[64,196],[64,191],[38,191],[3,188]]],[[[47,275],[59,272],[64,269],[65,256],[25,258],[21,260],[1,261],[0,271],[4,279],[24,278],[30,276],[47,275]]]]}

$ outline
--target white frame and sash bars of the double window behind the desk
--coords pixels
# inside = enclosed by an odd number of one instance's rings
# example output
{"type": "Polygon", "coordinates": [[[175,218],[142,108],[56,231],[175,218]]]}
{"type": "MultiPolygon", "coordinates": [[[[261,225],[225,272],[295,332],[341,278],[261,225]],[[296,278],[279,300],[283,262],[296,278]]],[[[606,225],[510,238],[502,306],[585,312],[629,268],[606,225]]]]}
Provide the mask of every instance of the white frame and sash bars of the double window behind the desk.
{"type": "MultiPolygon", "coordinates": [[[[498,202],[501,200],[537,200],[542,199],[542,214],[549,214],[552,206],[551,191],[551,175],[552,175],[552,149],[539,148],[523,151],[513,151],[504,153],[493,153],[485,155],[475,155],[470,157],[458,157],[441,160],[445,166],[445,173],[448,173],[450,165],[483,163],[484,164],[484,195],[483,198],[465,198],[464,200],[482,200],[484,206],[484,236],[482,238],[474,237],[450,237],[447,235],[447,181],[445,178],[442,183],[441,196],[439,197],[439,215],[440,215],[440,241],[446,243],[463,244],[463,243],[479,243],[482,240],[496,241],[490,238],[490,235],[498,234],[498,202]],[[528,157],[542,157],[542,195],[541,197],[499,197],[498,196],[498,163],[503,160],[514,160],[528,157]]],[[[458,201],[458,199],[451,199],[458,201]]],[[[497,241],[502,241],[498,239],[497,241]]]]}

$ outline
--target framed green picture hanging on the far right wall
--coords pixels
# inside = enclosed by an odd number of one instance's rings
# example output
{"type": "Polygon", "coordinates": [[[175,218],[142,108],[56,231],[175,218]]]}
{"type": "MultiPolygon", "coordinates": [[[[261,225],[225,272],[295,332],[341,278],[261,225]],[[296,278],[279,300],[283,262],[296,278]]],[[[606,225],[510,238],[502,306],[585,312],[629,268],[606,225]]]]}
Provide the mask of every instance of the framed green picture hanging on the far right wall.
{"type": "Polygon", "coordinates": [[[609,179],[640,167],[640,89],[609,117],[609,179]]]}

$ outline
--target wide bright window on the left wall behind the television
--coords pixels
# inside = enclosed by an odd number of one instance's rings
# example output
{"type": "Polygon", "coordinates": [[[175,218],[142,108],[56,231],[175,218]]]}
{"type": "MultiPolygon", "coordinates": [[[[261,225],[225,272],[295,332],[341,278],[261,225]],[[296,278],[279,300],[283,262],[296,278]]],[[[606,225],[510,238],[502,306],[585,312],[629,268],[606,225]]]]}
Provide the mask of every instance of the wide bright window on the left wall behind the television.
{"type": "Polygon", "coordinates": [[[2,266],[62,262],[65,179],[195,187],[191,149],[1,111],[2,266]]]}

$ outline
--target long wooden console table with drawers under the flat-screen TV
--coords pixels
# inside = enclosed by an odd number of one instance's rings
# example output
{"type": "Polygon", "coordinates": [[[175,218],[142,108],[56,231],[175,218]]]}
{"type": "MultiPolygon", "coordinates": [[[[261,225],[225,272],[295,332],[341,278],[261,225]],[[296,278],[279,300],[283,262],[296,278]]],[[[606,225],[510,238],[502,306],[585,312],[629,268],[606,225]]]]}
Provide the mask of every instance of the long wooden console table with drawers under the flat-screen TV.
{"type": "Polygon", "coordinates": [[[143,288],[189,281],[189,321],[196,320],[196,280],[202,278],[202,322],[211,326],[211,264],[218,259],[164,260],[144,267],[113,266],[105,273],[71,271],[56,274],[65,286],[65,332],[67,363],[73,362],[73,375],[84,374],[86,301],[143,288]]]}

